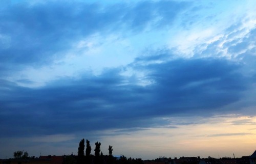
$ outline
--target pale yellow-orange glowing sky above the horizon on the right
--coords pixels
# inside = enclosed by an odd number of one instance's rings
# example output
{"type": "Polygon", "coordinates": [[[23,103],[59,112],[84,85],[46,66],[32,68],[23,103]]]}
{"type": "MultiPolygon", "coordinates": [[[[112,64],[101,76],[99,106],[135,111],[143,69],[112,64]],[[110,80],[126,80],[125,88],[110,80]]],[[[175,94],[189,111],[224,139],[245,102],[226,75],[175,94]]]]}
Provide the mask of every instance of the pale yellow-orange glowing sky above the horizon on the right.
{"type": "Polygon", "coordinates": [[[134,150],[136,152],[140,150],[152,155],[152,158],[158,156],[218,158],[232,157],[233,153],[241,157],[250,155],[256,148],[255,123],[256,117],[235,115],[213,117],[208,118],[207,121],[203,120],[202,123],[176,125],[178,128],[155,127],[109,138],[106,136],[104,142],[115,143],[113,147],[117,152],[125,150],[130,152],[130,156],[135,155],[134,150]]]}

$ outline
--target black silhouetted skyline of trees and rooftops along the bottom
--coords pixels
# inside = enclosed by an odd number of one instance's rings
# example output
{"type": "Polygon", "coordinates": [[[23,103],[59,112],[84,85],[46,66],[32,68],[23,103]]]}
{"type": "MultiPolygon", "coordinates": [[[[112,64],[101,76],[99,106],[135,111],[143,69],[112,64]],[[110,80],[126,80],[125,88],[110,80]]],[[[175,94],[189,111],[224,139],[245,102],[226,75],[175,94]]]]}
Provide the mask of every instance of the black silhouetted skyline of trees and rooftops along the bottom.
{"type": "MultiPolygon", "coordinates": [[[[15,151],[13,158],[0,159],[0,164],[256,164],[256,150],[250,156],[243,156],[241,158],[200,158],[198,157],[180,157],[166,158],[159,157],[154,160],[142,160],[141,158],[127,158],[122,156],[113,156],[113,147],[109,146],[109,154],[103,155],[100,151],[100,142],[95,143],[94,155],[91,154],[90,141],[86,140],[86,154],[84,154],[84,139],[79,142],[77,155],[63,156],[39,156],[39,158],[30,157],[28,152],[15,151]]],[[[234,156],[234,155],[233,155],[234,156]]]]}

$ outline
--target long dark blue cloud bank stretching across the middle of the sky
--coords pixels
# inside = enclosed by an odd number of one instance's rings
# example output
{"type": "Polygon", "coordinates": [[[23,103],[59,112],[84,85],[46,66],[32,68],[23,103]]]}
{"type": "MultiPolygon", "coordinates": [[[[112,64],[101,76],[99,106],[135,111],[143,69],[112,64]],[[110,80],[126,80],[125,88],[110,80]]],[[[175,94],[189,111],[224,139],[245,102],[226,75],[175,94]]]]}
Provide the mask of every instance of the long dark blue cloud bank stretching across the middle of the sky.
{"type": "Polygon", "coordinates": [[[76,80],[58,79],[41,88],[1,80],[0,129],[5,131],[1,135],[162,126],[168,122],[154,118],[208,115],[240,100],[247,89],[241,66],[223,59],[178,59],[143,66],[136,61],[132,66],[147,72],[144,78],[154,83],[129,83],[120,68],[76,80]]]}

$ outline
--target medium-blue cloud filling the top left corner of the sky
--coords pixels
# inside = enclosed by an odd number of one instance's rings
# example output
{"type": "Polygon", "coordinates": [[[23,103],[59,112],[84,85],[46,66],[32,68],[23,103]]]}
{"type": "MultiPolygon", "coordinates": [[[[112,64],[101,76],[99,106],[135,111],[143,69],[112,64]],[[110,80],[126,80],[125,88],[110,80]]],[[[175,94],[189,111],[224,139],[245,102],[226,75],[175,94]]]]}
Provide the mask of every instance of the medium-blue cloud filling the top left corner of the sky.
{"type": "Polygon", "coordinates": [[[185,6],[185,3],[168,1],[111,6],[81,2],[32,6],[9,3],[1,8],[0,61],[33,67],[47,65],[63,57],[74,41],[95,33],[143,31],[153,21],[163,26],[167,21],[171,23],[185,6]],[[161,19],[155,20],[156,17],[161,19]]]}

